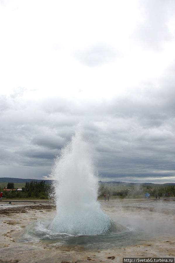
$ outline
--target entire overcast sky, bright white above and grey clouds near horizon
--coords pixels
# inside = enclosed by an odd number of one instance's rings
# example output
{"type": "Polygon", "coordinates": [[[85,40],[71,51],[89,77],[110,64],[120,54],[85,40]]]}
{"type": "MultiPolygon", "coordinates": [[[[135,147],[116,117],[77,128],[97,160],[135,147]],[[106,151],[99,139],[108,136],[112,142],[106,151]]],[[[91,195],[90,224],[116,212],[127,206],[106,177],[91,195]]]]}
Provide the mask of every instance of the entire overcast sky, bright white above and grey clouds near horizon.
{"type": "Polygon", "coordinates": [[[81,126],[102,181],[175,182],[175,1],[0,0],[0,177],[81,126]]]}

